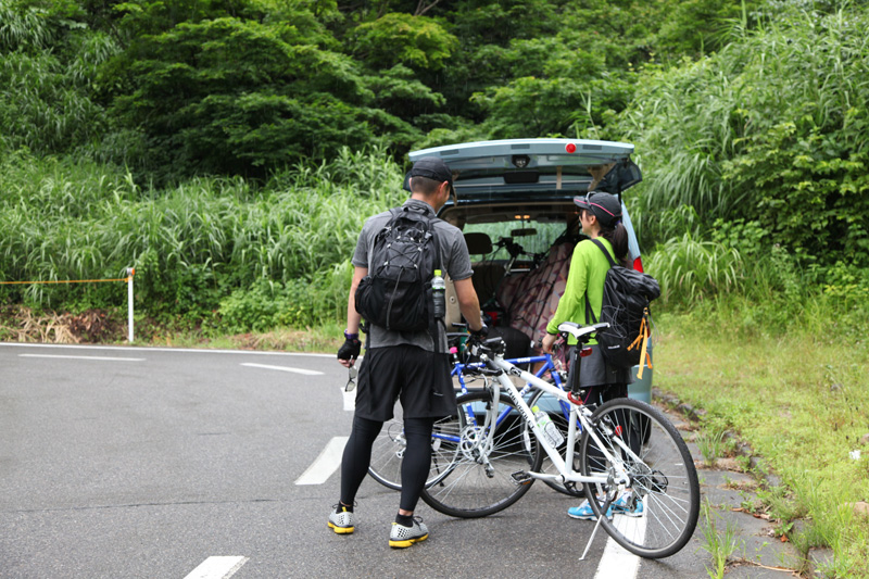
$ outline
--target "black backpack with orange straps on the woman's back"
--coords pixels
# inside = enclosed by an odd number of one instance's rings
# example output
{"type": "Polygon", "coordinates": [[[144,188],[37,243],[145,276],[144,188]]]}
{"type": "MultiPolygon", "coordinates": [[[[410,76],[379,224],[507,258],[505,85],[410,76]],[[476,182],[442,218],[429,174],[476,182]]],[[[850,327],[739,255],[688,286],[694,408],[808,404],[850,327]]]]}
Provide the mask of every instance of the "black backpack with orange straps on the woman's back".
{"type": "MultiPolygon", "coordinates": [[[[648,302],[660,295],[660,287],[654,277],[616,264],[603,243],[596,239],[592,239],[592,242],[604,252],[609,262],[600,319],[609,323],[609,327],[597,332],[597,344],[607,364],[617,368],[630,368],[640,364],[646,355],[646,341],[652,333],[648,302]]],[[[589,303],[588,291],[585,316],[592,324],[599,322],[589,303]]]]}

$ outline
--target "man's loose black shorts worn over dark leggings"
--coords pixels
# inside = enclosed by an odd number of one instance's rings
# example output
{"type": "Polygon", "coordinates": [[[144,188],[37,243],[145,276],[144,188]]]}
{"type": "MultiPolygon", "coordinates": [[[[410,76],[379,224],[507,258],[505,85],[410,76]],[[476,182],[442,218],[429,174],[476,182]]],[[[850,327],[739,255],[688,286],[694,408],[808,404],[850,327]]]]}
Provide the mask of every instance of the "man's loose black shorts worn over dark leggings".
{"type": "Polygon", "coordinates": [[[356,416],[389,420],[396,400],[405,418],[454,416],[450,370],[449,354],[408,344],[368,349],[356,382],[356,416]]]}

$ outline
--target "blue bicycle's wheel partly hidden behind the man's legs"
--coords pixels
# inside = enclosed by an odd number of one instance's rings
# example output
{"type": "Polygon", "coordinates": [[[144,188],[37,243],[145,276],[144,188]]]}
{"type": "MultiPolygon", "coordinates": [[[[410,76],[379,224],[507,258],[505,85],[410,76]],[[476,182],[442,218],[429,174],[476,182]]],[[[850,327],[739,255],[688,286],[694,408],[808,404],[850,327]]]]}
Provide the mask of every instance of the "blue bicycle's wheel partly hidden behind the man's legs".
{"type": "MultiPolygon", "coordinates": [[[[454,418],[443,418],[434,423],[431,433],[431,467],[426,487],[434,484],[450,470],[458,445],[458,424],[454,418]]],[[[371,446],[371,462],[368,464],[368,474],[380,484],[401,490],[401,463],[407,440],[404,438],[404,420],[401,407],[396,406],[395,417],[387,420],[371,446]]]]}

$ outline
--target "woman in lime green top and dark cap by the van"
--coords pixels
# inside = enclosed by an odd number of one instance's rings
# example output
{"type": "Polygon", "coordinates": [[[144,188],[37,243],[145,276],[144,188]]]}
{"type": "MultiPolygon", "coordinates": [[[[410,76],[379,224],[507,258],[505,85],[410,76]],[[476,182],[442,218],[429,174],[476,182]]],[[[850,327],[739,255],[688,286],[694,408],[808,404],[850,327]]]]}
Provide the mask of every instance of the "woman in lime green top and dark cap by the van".
{"type": "MultiPolygon", "coordinates": [[[[590,239],[577,243],[570,259],[570,270],[567,275],[567,287],[558,301],[555,314],[546,325],[546,336],[542,341],[545,352],[552,353],[552,347],[558,338],[558,324],[562,322],[576,322],[589,325],[594,319],[601,318],[601,307],[604,295],[604,279],[609,270],[609,261],[601,249],[591,241],[599,240],[617,263],[628,267],[628,231],[621,224],[621,203],[616,196],[609,193],[587,193],[577,197],[574,202],[579,206],[579,223],[582,232],[590,239]]],[[[576,344],[576,339],[570,337],[570,347],[576,344]]],[[[589,342],[591,355],[582,358],[580,365],[579,385],[582,389],[582,400],[588,403],[602,404],[614,398],[628,395],[628,383],[631,381],[629,369],[609,367],[593,339],[589,342]]],[[[570,360],[568,351],[567,358],[570,360]]],[[[574,383],[574,367],[568,383],[574,383]]],[[[621,514],[640,516],[642,506],[628,512],[615,501],[610,507],[621,514]]],[[[584,501],[580,506],[568,509],[567,514],[574,518],[593,519],[594,513],[584,501]]]]}

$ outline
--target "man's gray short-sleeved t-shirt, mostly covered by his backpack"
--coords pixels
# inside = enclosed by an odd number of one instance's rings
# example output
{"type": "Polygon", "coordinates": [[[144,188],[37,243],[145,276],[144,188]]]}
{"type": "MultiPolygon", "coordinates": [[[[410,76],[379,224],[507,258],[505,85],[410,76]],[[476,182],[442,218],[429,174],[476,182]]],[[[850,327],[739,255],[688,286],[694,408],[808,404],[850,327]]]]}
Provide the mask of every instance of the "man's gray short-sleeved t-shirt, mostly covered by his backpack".
{"type": "MultiPolygon", "coordinates": [[[[434,210],[425,201],[408,199],[402,206],[411,207],[414,211],[434,217],[434,210]]],[[[392,214],[388,211],[368,217],[365,225],[362,227],[360,239],[356,242],[356,251],[353,253],[353,259],[351,260],[353,265],[356,267],[367,267],[369,273],[374,272],[373,264],[370,263],[371,255],[369,250],[374,247],[374,240],[377,234],[386,227],[391,218],[392,214]]],[[[469,278],[474,274],[474,269],[470,268],[470,255],[468,254],[468,248],[465,244],[465,237],[462,235],[462,231],[442,219],[436,219],[434,235],[438,238],[438,244],[441,251],[442,269],[446,272],[453,280],[469,278]]],[[[440,344],[437,349],[431,339],[431,333],[427,330],[419,332],[391,331],[375,325],[369,325],[368,327],[368,338],[365,348],[411,344],[418,345],[429,352],[446,353],[446,331],[442,324],[438,326],[440,344]]]]}

